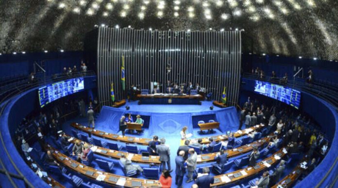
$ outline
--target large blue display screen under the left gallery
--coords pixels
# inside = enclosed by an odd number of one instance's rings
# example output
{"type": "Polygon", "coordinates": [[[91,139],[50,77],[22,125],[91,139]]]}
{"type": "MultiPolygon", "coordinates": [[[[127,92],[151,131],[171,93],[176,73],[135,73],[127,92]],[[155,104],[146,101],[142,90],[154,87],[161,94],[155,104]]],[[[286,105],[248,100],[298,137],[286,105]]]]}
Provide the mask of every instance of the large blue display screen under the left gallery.
{"type": "Polygon", "coordinates": [[[40,107],[84,89],[84,78],[71,78],[39,88],[40,107]]]}

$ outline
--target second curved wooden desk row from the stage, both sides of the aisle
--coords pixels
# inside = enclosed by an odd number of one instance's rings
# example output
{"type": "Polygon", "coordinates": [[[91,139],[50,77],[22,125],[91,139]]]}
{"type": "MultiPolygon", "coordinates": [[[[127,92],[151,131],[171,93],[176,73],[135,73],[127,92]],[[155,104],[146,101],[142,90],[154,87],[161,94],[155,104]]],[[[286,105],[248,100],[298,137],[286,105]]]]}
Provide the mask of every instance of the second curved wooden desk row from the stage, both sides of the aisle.
{"type": "MultiPolygon", "coordinates": [[[[258,141],[254,141],[252,143],[234,148],[234,149],[230,149],[230,150],[226,150],[226,152],[228,153],[228,158],[231,157],[236,157],[236,156],[240,156],[242,154],[248,153],[251,150],[253,150],[254,147],[260,147],[262,145],[264,145],[264,143],[268,143],[271,139],[271,136],[267,136],[265,138],[262,138],[258,141]]],[[[76,141],[81,141],[82,143],[86,143],[85,141],[82,141],[80,139],[76,139],[74,137],[71,137],[69,139],[69,141],[71,143],[74,143],[76,141]]],[[[100,146],[96,146],[93,144],[88,143],[89,145],[92,145],[92,147],[90,148],[95,154],[101,155],[103,157],[109,157],[109,158],[120,158],[122,154],[124,154],[126,157],[128,157],[129,155],[131,155],[131,160],[137,163],[145,163],[145,164],[153,164],[153,165],[160,165],[161,161],[159,160],[160,157],[159,156],[150,156],[150,157],[142,157],[142,155],[139,154],[131,154],[128,152],[121,152],[121,151],[117,151],[117,150],[111,150],[108,148],[104,148],[104,147],[100,147],[100,146]]],[[[219,152],[215,152],[215,153],[210,153],[210,154],[201,154],[197,156],[197,163],[206,163],[206,162],[212,162],[215,160],[215,157],[217,156],[217,154],[219,154],[219,152]]]]}

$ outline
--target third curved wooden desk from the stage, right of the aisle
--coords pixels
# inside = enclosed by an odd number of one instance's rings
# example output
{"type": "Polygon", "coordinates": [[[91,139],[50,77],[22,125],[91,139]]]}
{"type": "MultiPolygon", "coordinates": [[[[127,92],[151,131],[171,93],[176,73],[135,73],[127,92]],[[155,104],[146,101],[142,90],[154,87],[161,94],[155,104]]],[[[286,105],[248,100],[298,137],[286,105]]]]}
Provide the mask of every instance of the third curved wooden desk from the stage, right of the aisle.
{"type": "Polygon", "coordinates": [[[241,170],[237,170],[234,172],[230,172],[230,173],[225,173],[225,174],[221,174],[221,175],[217,175],[214,176],[214,181],[219,181],[218,183],[214,183],[211,184],[210,187],[223,187],[225,185],[230,185],[230,184],[234,184],[237,183],[240,180],[243,180],[247,177],[250,177],[256,173],[265,171],[268,169],[268,167],[266,165],[263,164],[263,161],[271,161],[269,164],[272,166],[274,164],[276,164],[279,160],[275,159],[275,155],[280,155],[280,158],[284,157],[285,153],[283,152],[283,148],[280,149],[279,151],[277,151],[276,153],[274,153],[273,155],[271,155],[268,158],[265,158],[264,160],[262,160],[261,162],[256,163],[256,166],[258,167],[257,169],[254,169],[254,167],[247,167],[241,170]],[[241,173],[243,172],[243,173],[241,173]],[[235,177],[235,174],[240,173],[241,175],[238,177],[235,177]],[[226,178],[227,177],[227,178],[226,178]],[[223,178],[224,180],[222,180],[221,178],[223,178]]]}

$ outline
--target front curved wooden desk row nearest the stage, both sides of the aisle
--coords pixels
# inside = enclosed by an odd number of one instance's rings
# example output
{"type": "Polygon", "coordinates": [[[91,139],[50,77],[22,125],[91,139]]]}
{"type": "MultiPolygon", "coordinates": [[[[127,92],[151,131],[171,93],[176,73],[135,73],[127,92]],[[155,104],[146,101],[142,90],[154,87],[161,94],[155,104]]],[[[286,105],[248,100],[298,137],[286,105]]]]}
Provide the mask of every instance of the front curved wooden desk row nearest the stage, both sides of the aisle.
{"type": "MultiPolygon", "coordinates": [[[[145,139],[145,138],[136,138],[136,137],[129,137],[129,136],[122,136],[118,134],[112,134],[112,133],[107,133],[104,131],[96,130],[90,127],[86,127],[83,125],[80,125],[78,123],[71,123],[70,124],[72,127],[79,129],[81,131],[84,131],[88,134],[95,135],[97,137],[101,137],[104,139],[112,140],[112,141],[121,141],[121,142],[126,142],[126,143],[133,143],[133,144],[140,144],[140,145],[148,145],[149,141],[152,141],[152,139],[145,139]]],[[[254,130],[258,130],[260,128],[264,127],[263,124],[261,125],[255,125],[250,128],[246,128],[243,130],[238,130],[236,133],[234,133],[234,137],[238,138],[244,135],[247,135],[251,133],[254,130]]],[[[220,135],[220,136],[214,136],[211,137],[215,141],[225,141],[228,139],[227,135],[220,135]]],[[[190,141],[197,142],[198,139],[191,139],[190,141]]],[[[202,138],[202,143],[210,143],[209,138],[202,138]]]]}

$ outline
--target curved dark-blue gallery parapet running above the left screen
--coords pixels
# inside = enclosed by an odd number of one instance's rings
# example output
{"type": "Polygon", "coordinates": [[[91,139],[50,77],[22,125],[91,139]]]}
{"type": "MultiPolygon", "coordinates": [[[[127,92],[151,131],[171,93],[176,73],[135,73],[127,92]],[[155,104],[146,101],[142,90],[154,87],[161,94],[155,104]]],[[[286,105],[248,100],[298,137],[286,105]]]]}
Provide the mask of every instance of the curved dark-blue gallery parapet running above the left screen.
{"type": "MultiPolygon", "coordinates": [[[[31,90],[35,87],[45,85],[46,83],[52,83],[52,82],[56,82],[56,81],[60,81],[60,80],[68,79],[68,78],[77,78],[77,77],[86,77],[86,76],[95,76],[95,73],[94,73],[94,71],[86,71],[86,72],[73,73],[71,75],[59,74],[56,77],[55,77],[55,75],[50,76],[48,78],[45,77],[43,82],[41,80],[36,80],[34,82],[25,82],[25,83],[19,84],[15,88],[11,88],[11,91],[7,92],[1,98],[0,105],[2,104],[3,106],[1,107],[1,110],[0,110],[0,117],[2,116],[3,110],[7,107],[7,104],[9,103],[10,99],[17,96],[18,94],[21,94],[25,91],[31,90]]],[[[7,176],[7,178],[9,179],[9,181],[11,182],[11,184],[14,188],[17,188],[17,185],[13,181],[12,176],[17,178],[17,179],[22,179],[24,181],[25,187],[34,188],[34,186],[31,184],[31,182],[29,182],[26,179],[26,177],[22,174],[20,169],[17,168],[17,165],[13,161],[12,157],[9,155],[8,150],[6,148],[6,145],[3,141],[1,131],[0,131],[0,141],[1,141],[1,145],[2,145],[1,147],[5,150],[5,155],[8,157],[8,159],[10,160],[10,162],[13,165],[13,167],[15,168],[15,170],[18,172],[18,175],[13,174],[11,172],[8,172],[6,167],[4,166],[1,158],[0,158],[0,165],[2,167],[2,170],[0,171],[0,173],[4,173],[7,176]]]]}

